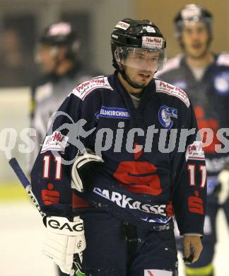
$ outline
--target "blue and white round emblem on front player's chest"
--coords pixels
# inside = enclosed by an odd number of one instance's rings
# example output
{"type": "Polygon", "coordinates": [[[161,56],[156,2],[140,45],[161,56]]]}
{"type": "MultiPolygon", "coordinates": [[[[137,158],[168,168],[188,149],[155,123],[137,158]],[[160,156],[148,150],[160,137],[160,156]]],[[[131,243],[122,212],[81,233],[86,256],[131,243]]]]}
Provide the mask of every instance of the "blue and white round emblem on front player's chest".
{"type": "Polygon", "coordinates": [[[162,105],[158,111],[158,119],[161,125],[167,128],[167,130],[170,130],[173,125],[171,117],[177,119],[177,109],[169,108],[167,105],[162,105]]]}

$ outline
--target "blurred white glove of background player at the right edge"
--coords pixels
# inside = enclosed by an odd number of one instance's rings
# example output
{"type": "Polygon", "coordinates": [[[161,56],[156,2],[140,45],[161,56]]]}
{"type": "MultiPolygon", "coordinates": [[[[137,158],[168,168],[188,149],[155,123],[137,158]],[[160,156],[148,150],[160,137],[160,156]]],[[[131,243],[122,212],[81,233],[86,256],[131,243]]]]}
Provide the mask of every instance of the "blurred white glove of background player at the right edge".
{"type": "Polygon", "coordinates": [[[218,174],[218,182],[221,183],[221,189],[218,192],[218,203],[223,205],[229,196],[229,170],[224,169],[218,174]]]}

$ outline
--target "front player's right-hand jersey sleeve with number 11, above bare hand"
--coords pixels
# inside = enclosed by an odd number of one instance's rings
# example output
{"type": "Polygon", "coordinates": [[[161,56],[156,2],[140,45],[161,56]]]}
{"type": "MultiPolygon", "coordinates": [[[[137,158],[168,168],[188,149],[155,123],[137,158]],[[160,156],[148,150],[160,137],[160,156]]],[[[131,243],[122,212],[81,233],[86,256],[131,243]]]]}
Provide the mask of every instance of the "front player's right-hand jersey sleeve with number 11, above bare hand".
{"type": "Polygon", "coordinates": [[[192,105],[188,117],[188,128],[180,132],[179,156],[173,161],[176,163],[172,178],[173,207],[181,235],[204,234],[206,206],[206,164],[192,105]],[[185,139],[187,131],[189,135],[185,139]]]}

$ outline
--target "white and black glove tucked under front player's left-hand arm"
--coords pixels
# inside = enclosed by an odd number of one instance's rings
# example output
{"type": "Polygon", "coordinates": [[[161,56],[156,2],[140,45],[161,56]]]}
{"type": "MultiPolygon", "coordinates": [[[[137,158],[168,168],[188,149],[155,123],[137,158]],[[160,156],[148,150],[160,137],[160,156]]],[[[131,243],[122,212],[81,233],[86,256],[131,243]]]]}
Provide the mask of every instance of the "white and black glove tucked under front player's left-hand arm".
{"type": "Polygon", "coordinates": [[[71,169],[71,188],[84,192],[90,189],[88,180],[95,171],[98,171],[104,161],[90,149],[86,149],[84,154],[79,155],[71,169]]]}

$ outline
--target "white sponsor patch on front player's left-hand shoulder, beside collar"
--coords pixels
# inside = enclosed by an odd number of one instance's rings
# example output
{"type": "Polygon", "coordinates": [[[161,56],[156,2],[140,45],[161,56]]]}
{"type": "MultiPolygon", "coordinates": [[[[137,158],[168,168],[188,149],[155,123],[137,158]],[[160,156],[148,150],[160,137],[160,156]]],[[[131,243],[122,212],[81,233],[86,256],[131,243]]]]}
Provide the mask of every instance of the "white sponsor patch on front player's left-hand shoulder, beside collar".
{"type": "Polygon", "coordinates": [[[74,95],[76,95],[78,98],[81,98],[81,100],[84,100],[86,96],[96,88],[107,88],[110,90],[114,90],[107,79],[107,77],[97,78],[97,79],[90,79],[89,81],[84,81],[82,84],[76,86],[74,91],[74,95]]]}

